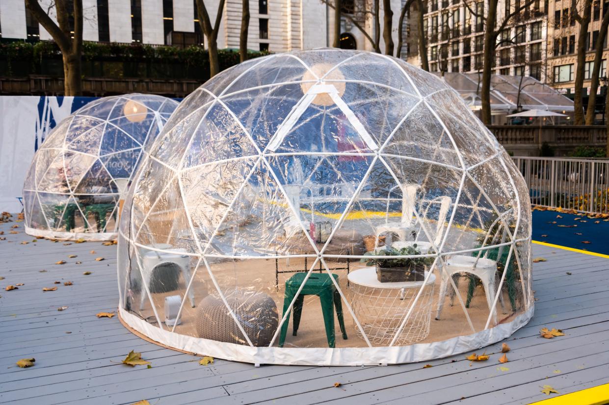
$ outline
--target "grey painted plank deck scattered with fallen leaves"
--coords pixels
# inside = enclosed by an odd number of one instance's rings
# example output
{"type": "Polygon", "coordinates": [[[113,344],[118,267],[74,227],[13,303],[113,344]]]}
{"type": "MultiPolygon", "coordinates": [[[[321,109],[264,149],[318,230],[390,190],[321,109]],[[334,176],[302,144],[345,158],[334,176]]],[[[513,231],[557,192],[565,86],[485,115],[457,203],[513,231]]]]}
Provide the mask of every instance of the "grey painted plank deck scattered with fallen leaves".
{"type": "MultiPolygon", "coordinates": [[[[143,341],[122,327],[114,311],[116,246],[101,243],[32,242],[0,224],[0,403],[11,404],[525,404],[609,383],[609,260],[535,245],[535,317],[509,343],[510,361],[499,355],[470,365],[465,356],[388,367],[305,367],[250,364],[197,357],[143,341]],[[29,244],[20,244],[29,241],[29,244]],[[91,254],[90,251],[96,251],[91,254]],[[68,258],[76,254],[76,258],[68,258]],[[104,257],[103,261],[95,261],[104,257]],[[54,265],[66,260],[65,265],[54,265]],[[76,261],[82,261],[77,265],[76,261]],[[46,270],[46,272],[40,272],[46,270]],[[83,275],[91,271],[90,275],[83,275]],[[572,275],[566,275],[571,272],[572,275]],[[54,281],[61,284],[54,284],[54,281]],[[64,286],[64,281],[74,285],[64,286]],[[15,291],[6,285],[24,283],[15,291]],[[57,291],[43,292],[43,287],[57,291]],[[63,305],[65,311],[57,311],[63,305]],[[554,327],[566,336],[543,339],[554,327]],[[141,351],[152,368],[121,364],[141,351]],[[33,357],[35,366],[15,362],[33,357]],[[334,383],[341,383],[339,388],[334,383]]],[[[501,344],[487,348],[498,353],[501,344]]]]}

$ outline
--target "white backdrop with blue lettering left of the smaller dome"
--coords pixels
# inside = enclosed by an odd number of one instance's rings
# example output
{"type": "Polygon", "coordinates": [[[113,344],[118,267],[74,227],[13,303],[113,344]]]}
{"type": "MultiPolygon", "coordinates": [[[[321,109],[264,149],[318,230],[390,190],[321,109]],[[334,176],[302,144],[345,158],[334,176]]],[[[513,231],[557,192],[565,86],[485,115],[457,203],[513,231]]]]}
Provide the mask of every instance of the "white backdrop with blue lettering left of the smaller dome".
{"type": "Polygon", "coordinates": [[[0,96],[0,211],[19,212],[23,181],[37,148],[56,123],[96,97],[0,96]]]}

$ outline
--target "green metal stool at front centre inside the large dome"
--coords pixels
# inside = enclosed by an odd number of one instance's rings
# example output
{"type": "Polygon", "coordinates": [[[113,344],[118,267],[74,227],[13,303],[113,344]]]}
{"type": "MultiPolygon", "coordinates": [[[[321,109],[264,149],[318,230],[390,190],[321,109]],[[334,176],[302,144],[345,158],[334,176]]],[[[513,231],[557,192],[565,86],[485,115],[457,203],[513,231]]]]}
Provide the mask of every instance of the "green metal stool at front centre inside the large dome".
{"type": "MultiPolygon", "coordinates": [[[[306,272],[298,272],[286,281],[286,294],[283,299],[283,314],[286,314],[290,303],[298,292],[298,288],[303,283],[306,277],[306,272]]],[[[339,276],[333,274],[334,280],[338,282],[339,276]]],[[[336,316],[339,319],[340,331],[343,334],[343,339],[347,339],[347,331],[345,330],[345,320],[342,315],[342,303],[340,302],[340,294],[336,290],[334,283],[330,279],[329,274],[314,274],[312,273],[306,280],[305,286],[298,294],[298,298],[294,302],[294,331],[292,335],[296,336],[298,326],[300,325],[300,316],[303,311],[303,302],[305,296],[319,296],[322,304],[323,323],[326,327],[326,338],[328,346],[334,347],[334,307],[336,307],[336,316]]],[[[287,325],[289,324],[290,314],[287,314],[286,322],[281,327],[281,335],[279,338],[279,347],[283,347],[286,341],[287,325]]]]}

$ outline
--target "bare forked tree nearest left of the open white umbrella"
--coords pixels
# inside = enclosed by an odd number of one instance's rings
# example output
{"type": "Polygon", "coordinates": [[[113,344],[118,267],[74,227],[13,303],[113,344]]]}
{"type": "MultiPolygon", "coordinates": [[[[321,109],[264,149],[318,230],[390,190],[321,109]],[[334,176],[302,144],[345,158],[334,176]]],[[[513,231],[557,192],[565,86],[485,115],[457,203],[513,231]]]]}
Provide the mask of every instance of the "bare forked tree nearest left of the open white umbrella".
{"type": "MultiPolygon", "coordinates": [[[[493,60],[495,58],[495,50],[497,47],[497,37],[502,30],[505,29],[507,24],[516,15],[533,4],[535,0],[529,0],[524,4],[516,5],[513,12],[505,10],[503,18],[497,18],[497,6],[499,0],[488,0],[488,12],[486,16],[479,15],[471,10],[470,5],[465,2],[465,6],[470,10],[470,13],[474,16],[482,18],[486,22],[484,28],[484,49],[482,52],[482,88],[480,101],[482,104],[482,122],[485,125],[491,123],[491,102],[490,102],[490,88],[491,88],[491,74],[493,73],[493,60]],[[499,26],[497,23],[499,22],[499,26]]],[[[586,0],[588,1],[588,0],[586,0]]]]}

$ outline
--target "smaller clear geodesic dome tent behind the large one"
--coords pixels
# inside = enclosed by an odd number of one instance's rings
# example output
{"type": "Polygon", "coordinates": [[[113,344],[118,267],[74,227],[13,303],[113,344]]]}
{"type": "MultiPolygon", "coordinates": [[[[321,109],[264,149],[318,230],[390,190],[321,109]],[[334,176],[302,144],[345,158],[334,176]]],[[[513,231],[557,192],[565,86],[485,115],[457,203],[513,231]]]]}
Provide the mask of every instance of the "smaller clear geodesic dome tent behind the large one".
{"type": "Polygon", "coordinates": [[[60,122],[23,185],[26,232],[110,240],[136,166],[178,103],[160,95],[104,97],[60,122]]]}

